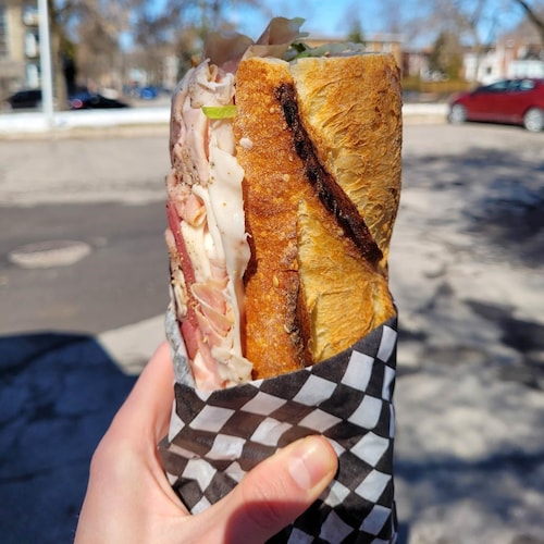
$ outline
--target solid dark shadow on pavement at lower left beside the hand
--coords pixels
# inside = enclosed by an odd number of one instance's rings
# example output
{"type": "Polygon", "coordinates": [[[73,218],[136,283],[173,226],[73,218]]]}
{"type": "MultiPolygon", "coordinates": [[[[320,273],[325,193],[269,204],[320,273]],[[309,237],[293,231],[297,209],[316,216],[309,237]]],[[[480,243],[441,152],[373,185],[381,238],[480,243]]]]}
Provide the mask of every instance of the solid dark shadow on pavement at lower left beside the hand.
{"type": "Polygon", "coordinates": [[[91,336],[0,338],[2,542],[73,542],[90,457],[135,382],[91,336]]]}

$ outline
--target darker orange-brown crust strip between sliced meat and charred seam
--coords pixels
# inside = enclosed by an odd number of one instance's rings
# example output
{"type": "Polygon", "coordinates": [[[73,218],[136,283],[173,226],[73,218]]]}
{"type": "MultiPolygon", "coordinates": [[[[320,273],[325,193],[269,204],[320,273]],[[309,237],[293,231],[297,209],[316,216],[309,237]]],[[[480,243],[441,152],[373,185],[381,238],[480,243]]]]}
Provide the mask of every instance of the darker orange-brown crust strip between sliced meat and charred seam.
{"type": "Polygon", "coordinates": [[[279,82],[286,79],[288,66],[281,61],[243,62],[236,75],[234,135],[237,160],[246,171],[243,194],[251,248],[243,347],[255,378],[304,367],[296,322],[297,210],[300,199],[313,195],[274,98],[279,82]]]}

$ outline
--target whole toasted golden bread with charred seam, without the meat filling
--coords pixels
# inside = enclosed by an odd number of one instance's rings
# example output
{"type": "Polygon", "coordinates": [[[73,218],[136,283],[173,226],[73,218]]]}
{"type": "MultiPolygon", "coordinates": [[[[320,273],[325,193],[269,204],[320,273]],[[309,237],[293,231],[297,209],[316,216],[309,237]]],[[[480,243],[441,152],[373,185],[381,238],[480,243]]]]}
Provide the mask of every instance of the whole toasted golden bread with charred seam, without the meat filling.
{"type": "Polygon", "coordinates": [[[242,61],[234,134],[251,261],[254,378],[322,361],[395,313],[387,255],[400,189],[391,55],[242,61]]]}

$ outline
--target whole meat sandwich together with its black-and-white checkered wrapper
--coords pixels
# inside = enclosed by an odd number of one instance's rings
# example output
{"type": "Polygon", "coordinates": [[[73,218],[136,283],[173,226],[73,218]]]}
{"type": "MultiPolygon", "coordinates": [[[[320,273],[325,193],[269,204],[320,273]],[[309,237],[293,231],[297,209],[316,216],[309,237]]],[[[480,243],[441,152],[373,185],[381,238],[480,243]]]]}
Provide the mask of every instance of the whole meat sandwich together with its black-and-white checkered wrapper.
{"type": "Polygon", "coordinates": [[[272,20],[255,44],[215,36],[173,97],[160,453],[198,514],[322,434],[338,471],[270,542],[395,542],[399,73],[390,54],[309,48],[300,23],[272,20]]]}

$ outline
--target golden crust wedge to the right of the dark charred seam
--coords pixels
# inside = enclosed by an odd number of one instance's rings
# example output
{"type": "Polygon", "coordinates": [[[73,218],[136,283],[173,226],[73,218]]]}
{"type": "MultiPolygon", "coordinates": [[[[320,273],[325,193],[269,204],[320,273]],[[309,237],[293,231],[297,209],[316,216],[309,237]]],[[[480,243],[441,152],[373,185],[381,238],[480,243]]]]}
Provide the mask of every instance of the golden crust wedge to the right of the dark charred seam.
{"type": "Polygon", "coordinates": [[[400,197],[403,116],[395,59],[309,58],[290,72],[319,158],[358,207],[385,268],[400,197]]]}

